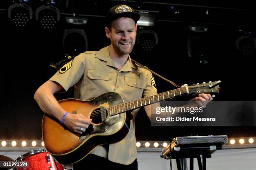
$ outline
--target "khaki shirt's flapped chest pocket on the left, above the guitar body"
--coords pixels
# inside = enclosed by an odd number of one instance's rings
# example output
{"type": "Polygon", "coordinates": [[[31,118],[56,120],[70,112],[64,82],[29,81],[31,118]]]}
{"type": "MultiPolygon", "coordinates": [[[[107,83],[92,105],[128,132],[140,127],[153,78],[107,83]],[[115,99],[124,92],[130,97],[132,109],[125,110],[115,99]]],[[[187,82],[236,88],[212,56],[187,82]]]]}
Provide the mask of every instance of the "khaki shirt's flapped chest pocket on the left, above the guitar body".
{"type": "Polygon", "coordinates": [[[89,69],[87,72],[87,95],[97,97],[98,95],[110,91],[110,81],[112,72],[89,69]]]}

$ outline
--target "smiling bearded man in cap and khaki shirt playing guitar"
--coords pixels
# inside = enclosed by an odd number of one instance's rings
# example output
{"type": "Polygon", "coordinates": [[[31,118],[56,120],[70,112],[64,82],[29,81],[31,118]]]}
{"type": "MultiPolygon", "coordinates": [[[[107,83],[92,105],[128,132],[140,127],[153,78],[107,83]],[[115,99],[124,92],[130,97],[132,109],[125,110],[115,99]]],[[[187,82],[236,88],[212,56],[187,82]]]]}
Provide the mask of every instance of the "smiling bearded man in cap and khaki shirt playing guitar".
{"type": "MultiPolygon", "coordinates": [[[[41,85],[34,95],[41,109],[58,119],[72,132],[81,134],[92,120],[82,114],[67,113],[58,104],[54,93],[67,91],[74,85],[75,98],[81,100],[89,100],[108,91],[118,92],[125,102],[137,100],[142,96],[156,95],[157,90],[151,83],[151,72],[135,65],[129,56],[135,44],[136,22],[139,18],[140,15],[127,5],[110,8],[105,27],[110,46],[98,52],[87,51],[78,55],[41,85]]],[[[206,105],[212,97],[209,94],[200,94],[195,100],[199,105],[206,105]]],[[[150,118],[151,106],[144,108],[150,118]]],[[[133,110],[133,117],[137,112],[138,110],[133,110]]],[[[105,167],[138,169],[134,123],[133,118],[130,131],[123,140],[98,146],[86,159],[74,164],[74,170],[80,165],[90,170],[105,167]]]]}

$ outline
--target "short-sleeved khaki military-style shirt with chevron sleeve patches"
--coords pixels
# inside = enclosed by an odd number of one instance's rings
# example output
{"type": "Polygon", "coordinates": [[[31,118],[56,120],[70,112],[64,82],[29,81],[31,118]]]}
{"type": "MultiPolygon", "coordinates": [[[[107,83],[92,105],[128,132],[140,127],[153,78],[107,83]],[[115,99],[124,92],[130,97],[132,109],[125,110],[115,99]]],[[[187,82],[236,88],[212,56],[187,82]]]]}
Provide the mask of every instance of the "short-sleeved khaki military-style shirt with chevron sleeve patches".
{"type": "MultiPolygon", "coordinates": [[[[90,100],[111,91],[122,95],[125,102],[157,94],[151,72],[131,62],[130,56],[118,70],[110,57],[109,46],[100,51],[81,53],[61,67],[50,80],[58,82],[66,91],[74,85],[74,97],[80,100],[90,100]]],[[[138,109],[133,110],[133,117],[137,112],[138,109]]],[[[108,150],[98,146],[92,153],[115,163],[131,164],[137,157],[135,118],[123,140],[110,144],[108,150]]]]}

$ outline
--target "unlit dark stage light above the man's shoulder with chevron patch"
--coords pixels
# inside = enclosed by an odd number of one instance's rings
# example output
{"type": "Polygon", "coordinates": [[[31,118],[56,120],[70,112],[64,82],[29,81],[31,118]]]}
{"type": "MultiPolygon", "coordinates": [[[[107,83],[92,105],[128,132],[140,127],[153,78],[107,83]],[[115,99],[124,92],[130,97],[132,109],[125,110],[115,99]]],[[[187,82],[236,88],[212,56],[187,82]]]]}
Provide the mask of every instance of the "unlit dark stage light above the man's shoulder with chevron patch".
{"type": "Polygon", "coordinates": [[[87,51],[88,40],[86,32],[82,29],[66,29],[63,33],[64,53],[70,56],[77,56],[87,51]]]}

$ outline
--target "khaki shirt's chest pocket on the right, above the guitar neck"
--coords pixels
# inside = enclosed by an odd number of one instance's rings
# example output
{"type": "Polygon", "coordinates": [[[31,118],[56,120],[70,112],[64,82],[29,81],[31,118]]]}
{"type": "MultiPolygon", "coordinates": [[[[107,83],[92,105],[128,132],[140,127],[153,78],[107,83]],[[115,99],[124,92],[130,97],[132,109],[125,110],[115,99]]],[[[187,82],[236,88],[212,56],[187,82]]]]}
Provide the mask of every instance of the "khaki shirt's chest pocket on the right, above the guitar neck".
{"type": "Polygon", "coordinates": [[[125,93],[129,101],[140,99],[144,89],[144,81],[135,77],[124,77],[125,93]]]}

